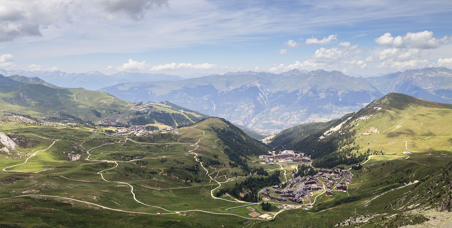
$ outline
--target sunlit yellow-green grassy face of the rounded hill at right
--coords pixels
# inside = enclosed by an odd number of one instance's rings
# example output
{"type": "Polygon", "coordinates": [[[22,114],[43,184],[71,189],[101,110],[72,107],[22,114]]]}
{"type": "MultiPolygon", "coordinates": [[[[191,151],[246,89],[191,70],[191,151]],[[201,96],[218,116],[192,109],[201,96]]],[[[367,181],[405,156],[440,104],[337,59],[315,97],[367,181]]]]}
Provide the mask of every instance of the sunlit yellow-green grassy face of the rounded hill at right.
{"type": "Polygon", "coordinates": [[[350,123],[360,148],[386,154],[451,152],[452,105],[390,93],[360,110],[350,123]]]}

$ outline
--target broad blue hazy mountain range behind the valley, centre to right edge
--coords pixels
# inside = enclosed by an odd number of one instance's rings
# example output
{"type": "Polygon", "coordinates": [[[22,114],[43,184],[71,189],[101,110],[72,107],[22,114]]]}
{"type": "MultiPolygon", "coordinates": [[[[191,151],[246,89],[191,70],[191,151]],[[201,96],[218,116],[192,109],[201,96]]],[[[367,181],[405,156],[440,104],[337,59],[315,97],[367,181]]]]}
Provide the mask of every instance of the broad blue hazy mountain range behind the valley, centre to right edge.
{"type": "Polygon", "coordinates": [[[336,119],[390,92],[452,102],[452,71],[423,68],[356,78],[339,71],[236,72],[173,82],[128,82],[100,91],[122,100],[168,100],[267,134],[336,119]]]}

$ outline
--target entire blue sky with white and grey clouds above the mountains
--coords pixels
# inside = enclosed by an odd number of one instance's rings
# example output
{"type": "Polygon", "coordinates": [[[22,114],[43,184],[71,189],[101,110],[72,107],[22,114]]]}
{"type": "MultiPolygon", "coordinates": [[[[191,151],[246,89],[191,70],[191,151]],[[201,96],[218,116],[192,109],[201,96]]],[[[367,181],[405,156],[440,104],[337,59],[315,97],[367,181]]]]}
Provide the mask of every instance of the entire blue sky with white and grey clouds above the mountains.
{"type": "Polygon", "coordinates": [[[450,0],[3,0],[0,23],[7,70],[452,68],[450,0]]]}

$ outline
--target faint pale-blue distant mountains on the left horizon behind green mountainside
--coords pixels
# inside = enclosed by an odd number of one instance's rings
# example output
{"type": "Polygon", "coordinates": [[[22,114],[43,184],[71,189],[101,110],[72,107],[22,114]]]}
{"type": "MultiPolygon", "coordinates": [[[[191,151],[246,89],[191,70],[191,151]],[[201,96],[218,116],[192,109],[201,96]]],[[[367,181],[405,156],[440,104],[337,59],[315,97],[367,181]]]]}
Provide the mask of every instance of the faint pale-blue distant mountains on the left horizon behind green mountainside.
{"type": "Polygon", "coordinates": [[[118,72],[112,75],[105,75],[98,71],[86,72],[86,73],[66,73],[61,71],[22,71],[11,70],[6,71],[0,68],[0,73],[5,76],[19,75],[26,77],[38,77],[42,80],[49,82],[59,87],[78,88],[83,87],[89,90],[99,89],[99,87],[108,87],[123,82],[137,82],[137,81],[177,81],[181,78],[176,75],[168,74],[154,74],[154,73],[131,73],[131,72],[118,72]]]}

